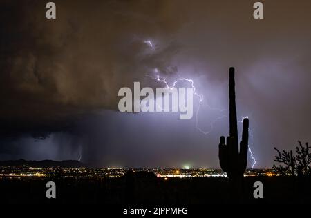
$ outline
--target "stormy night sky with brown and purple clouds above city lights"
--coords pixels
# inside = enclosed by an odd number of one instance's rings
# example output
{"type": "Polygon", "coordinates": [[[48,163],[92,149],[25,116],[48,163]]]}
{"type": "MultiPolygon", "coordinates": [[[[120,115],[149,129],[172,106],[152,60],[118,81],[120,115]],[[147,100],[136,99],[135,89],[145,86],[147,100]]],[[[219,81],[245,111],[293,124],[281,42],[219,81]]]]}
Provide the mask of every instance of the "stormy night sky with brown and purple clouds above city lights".
{"type": "Polygon", "coordinates": [[[262,20],[249,0],[54,2],[55,20],[44,1],[0,3],[0,160],[219,168],[231,66],[255,168],[272,167],[274,146],[311,142],[309,0],[261,1],[262,20]],[[194,80],[198,123],[117,110],[120,88],[163,87],[155,68],[194,80]]]}

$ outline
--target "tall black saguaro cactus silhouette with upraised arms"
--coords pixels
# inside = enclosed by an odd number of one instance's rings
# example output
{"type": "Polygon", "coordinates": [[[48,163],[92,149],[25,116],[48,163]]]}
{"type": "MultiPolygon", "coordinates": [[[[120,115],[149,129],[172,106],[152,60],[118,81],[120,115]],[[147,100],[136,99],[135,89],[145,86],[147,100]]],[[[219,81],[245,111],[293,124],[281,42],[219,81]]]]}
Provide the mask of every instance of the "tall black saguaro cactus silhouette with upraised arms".
{"type": "Polygon", "coordinates": [[[236,119],[236,93],[234,82],[234,68],[229,69],[229,136],[220,137],[219,161],[220,167],[234,184],[241,187],[243,174],[247,166],[248,150],[248,119],[243,120],[242,141],[238,150],[238,123],[236,119]]]}

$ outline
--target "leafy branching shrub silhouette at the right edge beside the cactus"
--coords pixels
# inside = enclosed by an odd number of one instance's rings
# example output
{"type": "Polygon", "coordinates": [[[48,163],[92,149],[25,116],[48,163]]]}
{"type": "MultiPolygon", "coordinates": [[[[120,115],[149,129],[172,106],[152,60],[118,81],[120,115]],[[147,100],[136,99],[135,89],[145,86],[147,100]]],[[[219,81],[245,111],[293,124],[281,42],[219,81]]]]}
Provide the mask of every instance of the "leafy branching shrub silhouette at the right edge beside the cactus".
{"type": "Polygon", "coordinates": [[[310,146],[305,143],[302,145],[301,141],[298,141],[299,146],[296,146],[296,154],[293,155],[292,150],[289,152],[283,150],[280,152],[274,147],[274,150],[278,152],[275,156],[274,161],[281,163],[279,166],[273,166],[273,169],[281,175],[292,175],[292,176],[305,176],[311,175],[311,153],[310,146]]]}

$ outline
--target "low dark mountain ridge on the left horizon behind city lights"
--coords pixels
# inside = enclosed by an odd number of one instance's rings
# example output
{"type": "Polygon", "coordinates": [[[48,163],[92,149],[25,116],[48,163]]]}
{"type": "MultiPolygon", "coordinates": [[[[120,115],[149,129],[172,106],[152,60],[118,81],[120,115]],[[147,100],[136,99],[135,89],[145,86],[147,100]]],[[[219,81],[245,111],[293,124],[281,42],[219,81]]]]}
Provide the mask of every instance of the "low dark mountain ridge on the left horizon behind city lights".
{"type": "Polygon", "coordinates": [[[52,160],[43,160],[43,161],[26,161],[24,159],[14,160],[14,161],[0,161],[0,166],[30,166],[30,167],[62,167],[62,168],[80,168],[87,167],[86,164],[75,161],[52,161],[52,160]]]}

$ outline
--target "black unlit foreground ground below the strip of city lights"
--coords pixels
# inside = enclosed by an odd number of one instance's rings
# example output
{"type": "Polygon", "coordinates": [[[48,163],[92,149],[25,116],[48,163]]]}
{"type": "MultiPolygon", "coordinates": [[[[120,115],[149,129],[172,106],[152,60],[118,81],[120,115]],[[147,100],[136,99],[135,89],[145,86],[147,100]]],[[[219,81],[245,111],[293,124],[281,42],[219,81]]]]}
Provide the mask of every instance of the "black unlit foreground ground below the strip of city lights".
{"type": "Polygon", "coordinates": [[[0,179],[1,204],[156,204],[311,203],[311,179],[245,177],[243,197],[232,199],[224,177],[192,179],[156,177],[149,173],[115,179],[0,179]],[[46,182],[55,181],[56,199],[46,198],[46,182]],[[253,184],[263,183],[263,199],[254,199],[253,184]]]}

